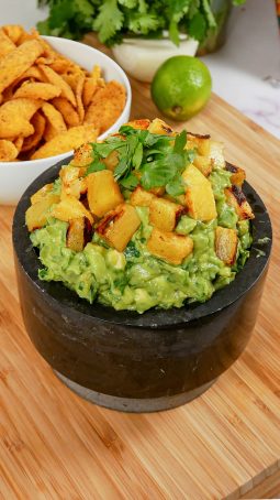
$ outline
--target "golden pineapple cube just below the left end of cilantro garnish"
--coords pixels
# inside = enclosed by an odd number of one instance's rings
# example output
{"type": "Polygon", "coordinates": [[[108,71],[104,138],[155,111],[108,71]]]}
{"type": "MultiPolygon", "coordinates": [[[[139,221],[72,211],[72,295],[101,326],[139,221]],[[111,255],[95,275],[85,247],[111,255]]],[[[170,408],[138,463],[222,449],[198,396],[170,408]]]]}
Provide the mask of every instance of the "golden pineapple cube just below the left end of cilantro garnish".
{"type": "Polygon", "coordinates": [[[123,202],[119,184],[110,170],[94,172],[86,178],[89,208],[96,216],[102,217],[123,202]]]}

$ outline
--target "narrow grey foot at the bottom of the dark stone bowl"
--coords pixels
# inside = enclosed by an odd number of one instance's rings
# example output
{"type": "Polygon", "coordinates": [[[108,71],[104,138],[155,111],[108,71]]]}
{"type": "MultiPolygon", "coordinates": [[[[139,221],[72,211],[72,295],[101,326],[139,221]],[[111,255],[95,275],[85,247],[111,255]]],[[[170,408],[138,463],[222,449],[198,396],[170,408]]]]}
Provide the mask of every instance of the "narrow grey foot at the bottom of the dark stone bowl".
{"type": "Polygon", "coordinates": [[[59,373],[59,371],[57,370],[54,370],[54,372],[63,383],[65,383],[69,389],[71,389],[71,391],[76,392],[76,394],[83,398],[85,400],[98,404],[99,406],[104,406],[110,410],[127,413],[152,413],[181,406],[182,404],[189,403],[190,401],[201,395],[216,381],[216,379],[211,380],[211,382],[204,383],[203,385],[200,385],[192,391],[182,392],[181,394],[173,394],[161,398],[134,399],[102,394],[101,392],[92,391],[91,389],[85,388],[83,385],[74,382],[64,374],[59,373]]]}

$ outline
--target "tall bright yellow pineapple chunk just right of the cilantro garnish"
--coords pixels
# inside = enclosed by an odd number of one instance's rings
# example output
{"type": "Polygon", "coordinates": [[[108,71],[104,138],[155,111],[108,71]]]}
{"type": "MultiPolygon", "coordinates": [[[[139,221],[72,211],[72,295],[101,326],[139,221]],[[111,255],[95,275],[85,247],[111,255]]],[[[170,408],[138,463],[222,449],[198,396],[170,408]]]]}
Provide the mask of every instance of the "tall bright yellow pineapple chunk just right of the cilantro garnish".
{"type": "Polygon", "coordinates": [[[216,217],[215,198],[208,178],[192,164],[187,166],[182,178],[187,184],[186,205],[190,216],[203,221],[214,219],[216,217]]]}

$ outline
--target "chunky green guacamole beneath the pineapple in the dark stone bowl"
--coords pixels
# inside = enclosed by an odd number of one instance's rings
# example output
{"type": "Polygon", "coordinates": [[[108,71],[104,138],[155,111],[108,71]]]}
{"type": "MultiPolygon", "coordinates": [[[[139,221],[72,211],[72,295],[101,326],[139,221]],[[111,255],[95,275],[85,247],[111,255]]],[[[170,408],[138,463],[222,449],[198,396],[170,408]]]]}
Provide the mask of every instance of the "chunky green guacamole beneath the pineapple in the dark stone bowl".
{"type": "MultiPolygon", "coordinates": [[[[44,228],[31,233],[44,265],[40,278],[61,281],[90,303],[97,300],[116,311],[144,313],[154,306],[167,309],[181,307],[186,301],[205,302],[215,290],[234,280],[248,258],[251,243],[249,222],[238,222],[234,209],[226,204],[224,187],[231,186],[229,177],[231,173],[221,169],[214,170],[209,177],[217,219],[201,222],[184,215],[177,225],[176,232],[189,235],[194,242],[193,252],[181,265],[169,264],[148,252],[149,209],[137,207],[142,225],[123,253],[109,248],[97,233],[83,251],[74,252],[66,248],[68,224],[51,217],[44,228]],[[233,267],[225,265],[215,254],[217,224],[238,230],[237,258],[233,267]]],[[[56,192],[58,187],[59,183],[56,183],[56,192]]]]}

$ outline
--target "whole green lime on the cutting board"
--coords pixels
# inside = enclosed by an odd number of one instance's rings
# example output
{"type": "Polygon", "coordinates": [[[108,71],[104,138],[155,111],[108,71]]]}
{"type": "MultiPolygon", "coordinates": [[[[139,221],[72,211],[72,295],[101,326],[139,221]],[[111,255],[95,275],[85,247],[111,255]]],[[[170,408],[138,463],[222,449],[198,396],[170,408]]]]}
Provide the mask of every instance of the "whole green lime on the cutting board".
{"type": "Polygon", "coordinates": [[[208,102],[212,79],[205,64],[197,57],[177,55],[167,59],[152,81],[152,98],[158,109],[173,120],[197,115],[208,102]]]}

